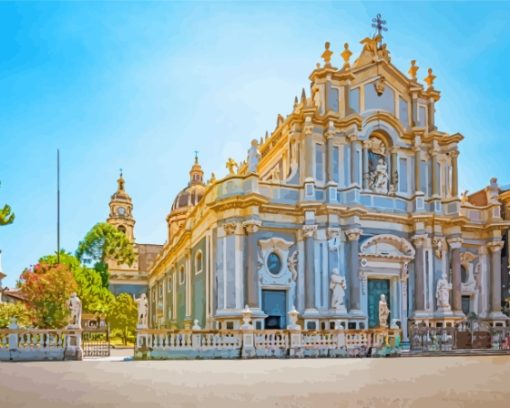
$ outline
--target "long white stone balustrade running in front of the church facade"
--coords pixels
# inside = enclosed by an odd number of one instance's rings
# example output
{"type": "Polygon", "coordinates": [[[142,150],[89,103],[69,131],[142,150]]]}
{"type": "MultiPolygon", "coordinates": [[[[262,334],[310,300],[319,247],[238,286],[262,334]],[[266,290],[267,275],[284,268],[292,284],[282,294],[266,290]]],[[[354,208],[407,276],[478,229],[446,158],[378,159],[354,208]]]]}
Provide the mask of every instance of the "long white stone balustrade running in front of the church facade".
{"type": "Polygon", "coordinates": [[[137,359],[356,357],[398,354],[400,330],[166,330],[137,332],[137,359]]]}

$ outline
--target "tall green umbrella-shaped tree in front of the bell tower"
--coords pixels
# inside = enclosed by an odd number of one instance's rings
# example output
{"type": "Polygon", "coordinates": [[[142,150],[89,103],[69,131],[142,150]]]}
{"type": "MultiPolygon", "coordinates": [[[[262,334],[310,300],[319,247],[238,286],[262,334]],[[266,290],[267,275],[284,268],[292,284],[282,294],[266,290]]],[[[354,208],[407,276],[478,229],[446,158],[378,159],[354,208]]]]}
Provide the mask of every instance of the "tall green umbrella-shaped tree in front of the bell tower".
{"type": "Polygon", "coordinates": [[[100,273],[105,288],[108,287],[108,260],[127,265],[132,265],[135,260],[133,244],[126,235],[104,222],[94,225],[80,241],[76,257],[87,265],[93,265],[100,273]]]}

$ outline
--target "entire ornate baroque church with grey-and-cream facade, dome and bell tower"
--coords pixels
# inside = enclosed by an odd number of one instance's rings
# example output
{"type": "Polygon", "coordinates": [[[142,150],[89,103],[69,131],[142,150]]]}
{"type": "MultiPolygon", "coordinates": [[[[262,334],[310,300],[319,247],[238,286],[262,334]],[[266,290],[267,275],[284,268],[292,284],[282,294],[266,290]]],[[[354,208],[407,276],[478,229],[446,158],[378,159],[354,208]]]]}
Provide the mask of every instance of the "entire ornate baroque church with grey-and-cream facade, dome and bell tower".
{"type": "MultiPolygon", "coordinates": [[[[373,328],[381,295],[404,340],[411,323],[506,324],[510,191],[460,195],[463,136],[435,124],[432,69],[421,83],[380,34],[361,44],[352,60],[326,43],[309,92],[223,178],[206,182],[196,157],[166,243],[111,265],[115,291],[147,290],[151,327],[237,329],[246,305],[259,329],[285,328],[293,308],[305,329],[373,328]]],[[[134,242],[122,176],[108,222],[134,242]]]]}

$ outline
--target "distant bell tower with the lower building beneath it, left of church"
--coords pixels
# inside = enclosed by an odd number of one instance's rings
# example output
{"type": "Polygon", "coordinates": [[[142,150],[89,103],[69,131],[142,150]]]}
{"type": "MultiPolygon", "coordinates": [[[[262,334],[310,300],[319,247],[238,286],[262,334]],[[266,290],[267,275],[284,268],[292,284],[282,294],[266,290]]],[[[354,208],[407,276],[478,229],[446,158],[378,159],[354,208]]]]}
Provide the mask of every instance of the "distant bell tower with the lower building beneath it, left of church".
{"type": "Polygon", "coordinates": [[[149,267],[163,246],[135,242],[136,221],[133,216],[133,203],[124,189],[124,183],[121,173],[117,180],[117,191],[110,200],[110,215],[106,222],[126,234],[128,239],[134,243],[135,261],[131,266],[119,265],[112,260],[108,261],[110,290],[116,295],[129,293],[139,296],[142,293],[147,293],[149,267]]]}

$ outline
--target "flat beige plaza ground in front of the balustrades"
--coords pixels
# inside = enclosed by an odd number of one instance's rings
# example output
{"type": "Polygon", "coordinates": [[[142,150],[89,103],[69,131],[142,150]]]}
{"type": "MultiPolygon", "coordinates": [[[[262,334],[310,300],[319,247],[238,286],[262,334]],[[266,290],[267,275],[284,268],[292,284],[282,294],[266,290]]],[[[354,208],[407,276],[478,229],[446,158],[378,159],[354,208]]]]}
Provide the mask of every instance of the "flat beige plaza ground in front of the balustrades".
{"type": "Polygon", "coordinates": [[[507,407],[510,356],[0,363],[0,407],[507,407]]]}

